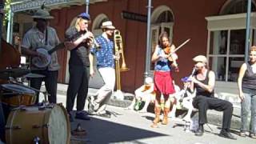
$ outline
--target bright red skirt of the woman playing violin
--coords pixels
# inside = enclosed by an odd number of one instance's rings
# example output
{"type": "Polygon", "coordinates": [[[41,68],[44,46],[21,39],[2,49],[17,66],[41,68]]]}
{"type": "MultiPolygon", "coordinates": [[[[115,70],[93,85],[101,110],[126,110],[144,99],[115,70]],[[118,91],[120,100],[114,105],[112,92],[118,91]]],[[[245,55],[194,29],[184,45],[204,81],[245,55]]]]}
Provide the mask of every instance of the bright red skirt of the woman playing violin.
{"type": "Polygon", "coordinates": [[[174,94],[174,83],[170,71],[154,72],[154,91],[162,93],[164,96],[174,94]]]}

